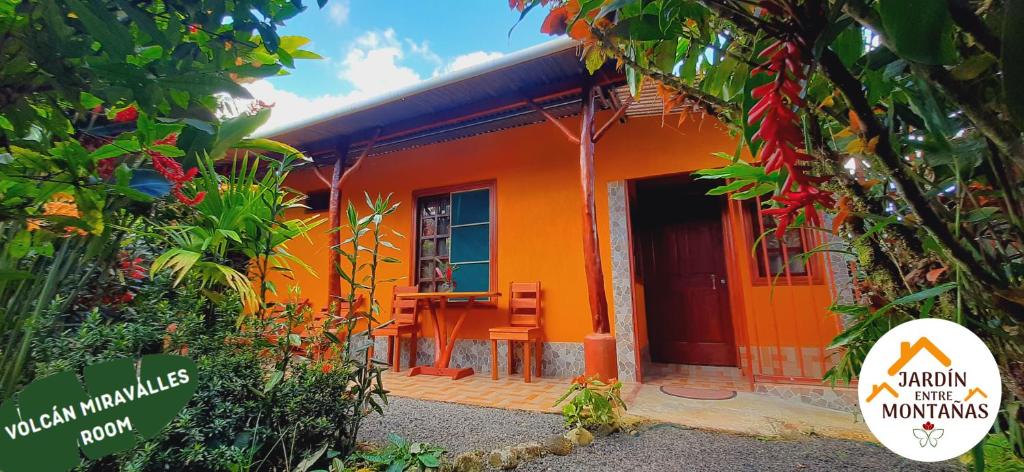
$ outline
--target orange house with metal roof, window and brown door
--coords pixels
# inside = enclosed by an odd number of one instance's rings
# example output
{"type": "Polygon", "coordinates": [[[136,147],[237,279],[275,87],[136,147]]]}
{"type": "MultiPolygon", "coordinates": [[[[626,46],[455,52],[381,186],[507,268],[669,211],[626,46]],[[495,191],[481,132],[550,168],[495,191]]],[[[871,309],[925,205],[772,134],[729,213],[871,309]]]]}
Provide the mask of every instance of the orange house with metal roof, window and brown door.
{"type": "MultiPolygon", "coordinates": [[[[571,377],[583,373],[592,331],[593,270],[581,224],[581,146],[566,134],[579,135],[594,90],[602,135],[593,155],[596,260],[618,378],[726,382],[852,407],[855,393],[820,380],[834,361],[825,346],[841,328],[826,308],[848,296],[845,262],[820,253],[805,261],[798,255],[819,237],[792,230],[780,242],[756,205],[707,196],[715,182],[691,173],[726,164],[713,153],[731,153],[736,138],[689,110],[663,117],[653,87],[632,100],[621,73],[606,65],[589,74],[579,52],[568,41],[546,43],[269,134],[313,158],[289,183],[325,217],[332,166],[365,155],[344,179],[341,205],[351,200],[366,212],[365,192],[401,203],[387,224],[406,234],[394,254],[402,263],[385,266],[383,278],[436,290],[439,259],[459,266],[459,291],[541,282],[543,375],[571,377]],[[690,115],[680,123],[679,113],[690,115]]],[[[323,306],[329,235],[310,238],[290,249],[318,276],[299,273],[294,283],[323,306]]],[[[381,298],[390,312],[390,297],[381,298]]],[[[488,372],[487,330],[508,316],[500,297],[474,308],[453,366],[488,372]]],[[[428,317],[421,320],[416,360],[426,364],[433,339],[428,317]]]]}

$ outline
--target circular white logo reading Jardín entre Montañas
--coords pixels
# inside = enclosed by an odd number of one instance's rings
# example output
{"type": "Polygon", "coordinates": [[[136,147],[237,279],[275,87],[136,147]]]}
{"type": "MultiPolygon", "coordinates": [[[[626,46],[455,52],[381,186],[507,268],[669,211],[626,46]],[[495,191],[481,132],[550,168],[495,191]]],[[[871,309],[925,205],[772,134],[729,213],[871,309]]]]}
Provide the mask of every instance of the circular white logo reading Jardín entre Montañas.
{"type": "Polygon", "coordinates": [[[999,368],[985,343],[935,318],[886,333],[864,359],[857,391],[874,437],[923,462],[971,450],[991,429],[1002,395],[999,368]]]}

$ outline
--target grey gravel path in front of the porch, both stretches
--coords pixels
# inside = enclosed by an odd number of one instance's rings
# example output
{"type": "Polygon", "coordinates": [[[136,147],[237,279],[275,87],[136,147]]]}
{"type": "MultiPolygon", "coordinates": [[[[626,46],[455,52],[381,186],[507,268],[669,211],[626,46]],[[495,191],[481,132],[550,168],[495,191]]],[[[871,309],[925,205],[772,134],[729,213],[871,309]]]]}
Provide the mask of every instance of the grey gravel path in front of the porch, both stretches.
{"type": "MultiPolygon", "coordinates": [[[[561,417],[391,397],[385,416],[371,417],[360,438],[383,441],[388,432],[439,444],[449,458],[525,441],[543,442],[562,432],[561,417]]],[[[956,464],[904,460],[882,446],[837,439],[761,440],[753,437],[658,425],[639,436],[598,438],[564,457],[547,456],[519,467],[526,471],[620,470],[963,470],[956,464]]]]}

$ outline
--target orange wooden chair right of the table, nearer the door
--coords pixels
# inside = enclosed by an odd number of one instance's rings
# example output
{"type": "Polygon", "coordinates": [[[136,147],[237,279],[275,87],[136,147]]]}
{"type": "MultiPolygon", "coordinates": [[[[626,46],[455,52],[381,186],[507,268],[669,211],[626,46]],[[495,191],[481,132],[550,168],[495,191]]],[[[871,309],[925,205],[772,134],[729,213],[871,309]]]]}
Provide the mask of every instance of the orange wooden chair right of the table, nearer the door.
{"type": "Polygon", "coordinates": [[[542,359],[544,358],[544,334],[541,330],[541,283],[512,283],[509,288],[509,325],[502,328],[492,328],[490,338],[490,378],[498,380],[498,341],[508,342],[508,372],[512,375],[512,348],[516,341],[522,342],[522,376],[525,382],[530,380],[530,361],[536,366],[537,377],[541,377],[542,359]],[[531,359],[530,345],[537,344],[531,359]]]}

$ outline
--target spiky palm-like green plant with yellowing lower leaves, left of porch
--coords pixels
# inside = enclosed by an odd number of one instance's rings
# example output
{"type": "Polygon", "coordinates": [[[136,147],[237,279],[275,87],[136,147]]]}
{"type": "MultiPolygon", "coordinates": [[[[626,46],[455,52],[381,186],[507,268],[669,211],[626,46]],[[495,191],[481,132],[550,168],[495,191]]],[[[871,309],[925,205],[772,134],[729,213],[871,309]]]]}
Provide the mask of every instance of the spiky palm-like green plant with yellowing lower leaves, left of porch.
{"type": "MultiPolygon", "coordinates": [[[[203,288],[236,292],[249,312],[262,317],[270,296],[278,294],[271,273],[288,276],[293,264],[312,271],[287,248],[289,241],[323,222],[315,215],[287,219],[286,213],[302,208],[302,196],[290,191],[285,180],[303,159],[299,154],[281,159],[244,155],[220,175],[204,155],[197,187],[206,198],[196,205],[187,224],[161,228],[172,247],[154,261],[151,271],[168,270],[175,284],[190,274],[203,288]]],[[[212,294],[217,296],[216,291],[212,294]]]]}

